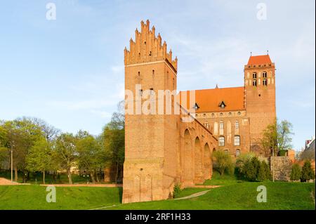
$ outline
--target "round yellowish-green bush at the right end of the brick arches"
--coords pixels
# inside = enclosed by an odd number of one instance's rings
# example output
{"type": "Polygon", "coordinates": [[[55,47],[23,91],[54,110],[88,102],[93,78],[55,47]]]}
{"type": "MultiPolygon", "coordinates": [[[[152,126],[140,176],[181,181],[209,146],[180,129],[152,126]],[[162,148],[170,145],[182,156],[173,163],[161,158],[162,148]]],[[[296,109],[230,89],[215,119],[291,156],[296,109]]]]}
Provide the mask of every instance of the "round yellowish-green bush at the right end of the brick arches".
{"type": "Polygon", "coordinates": [[[213,152],[213,168],[220,173],[220,176],[223,176],[225,171],[231,172],[234,169],[232,157],[223,151],[213,152]]]}

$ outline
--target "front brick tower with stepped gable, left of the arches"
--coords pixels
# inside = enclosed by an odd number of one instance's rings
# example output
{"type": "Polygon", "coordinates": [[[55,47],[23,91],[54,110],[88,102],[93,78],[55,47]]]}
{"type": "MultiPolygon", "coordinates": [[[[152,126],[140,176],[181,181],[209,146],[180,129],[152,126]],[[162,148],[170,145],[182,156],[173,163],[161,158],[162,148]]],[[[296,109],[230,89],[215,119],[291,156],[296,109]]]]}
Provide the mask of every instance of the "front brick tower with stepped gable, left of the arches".
{"type": "Polygon", "coordinates": [[[145,105],[148,114],[139,110],[147,99],[157,99],[158,90],[176,90],[177,58],[154,32],[149,20],[142,21],[136,41],[131,39],[129,51],[124,50],[125,89],[133,93],[134,113],[125,115],[123,203],[166,199],[176,181],[176,115],[158,114],[158,100],[145,105]]]}

